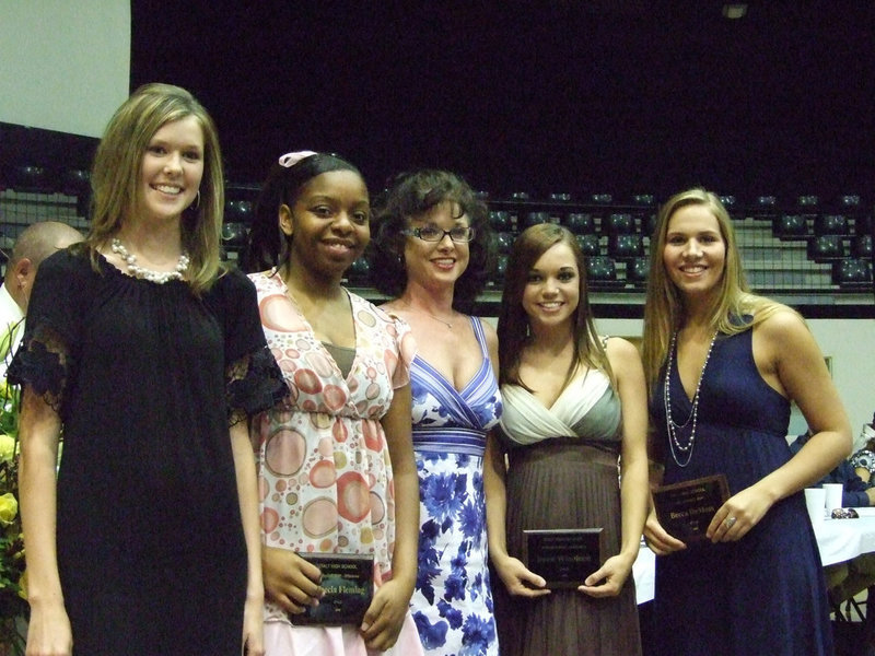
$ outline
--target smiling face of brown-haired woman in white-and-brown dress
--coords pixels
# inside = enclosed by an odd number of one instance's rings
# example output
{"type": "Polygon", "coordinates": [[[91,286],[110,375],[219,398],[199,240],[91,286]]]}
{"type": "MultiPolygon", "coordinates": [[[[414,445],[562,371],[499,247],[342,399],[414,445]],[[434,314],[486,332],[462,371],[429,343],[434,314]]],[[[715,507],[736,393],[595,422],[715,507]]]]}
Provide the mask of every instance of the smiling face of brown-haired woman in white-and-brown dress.
{"type": "Polygon", "coordinates": [[[571,326],[580,303],[580,270],[562,242],[550,246],[528,271],[523,309],[533,328],[571,326]]]}

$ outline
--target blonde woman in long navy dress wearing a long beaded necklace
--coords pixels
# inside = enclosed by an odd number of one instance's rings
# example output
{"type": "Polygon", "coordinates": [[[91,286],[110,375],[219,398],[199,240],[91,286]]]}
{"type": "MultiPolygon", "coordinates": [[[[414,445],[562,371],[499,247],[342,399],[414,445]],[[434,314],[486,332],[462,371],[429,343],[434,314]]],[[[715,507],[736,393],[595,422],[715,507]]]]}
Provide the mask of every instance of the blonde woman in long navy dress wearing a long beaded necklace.
{"type": "Polygon", "coordinates": [[[651,241],[644,367],[665,484],[724,473],[709,540],[685,544],[651,511],[657,653],[832,653],[820,557],[802,489],[850,452],[851,431],[802,317],[747,292],[731,219],[710,192],[663,206],[651,241]],[[795,401],[813,436],[786,444],[795,401]]]}

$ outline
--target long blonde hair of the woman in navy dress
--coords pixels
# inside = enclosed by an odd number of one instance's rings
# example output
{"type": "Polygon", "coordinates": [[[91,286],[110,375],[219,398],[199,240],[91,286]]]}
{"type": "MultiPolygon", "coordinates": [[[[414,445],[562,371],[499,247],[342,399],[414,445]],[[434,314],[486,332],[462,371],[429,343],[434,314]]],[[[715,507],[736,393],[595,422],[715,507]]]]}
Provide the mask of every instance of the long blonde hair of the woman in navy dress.
{"type": "Polygon", "coordinates": [[[723,276],[710,307],[711,328],[724,335],[736,335],[765,321],[781,309],[790,309],[770,298],[750,293],[742,268],[742,256],[735,239],[732,219],[720,199],[701,188],[676,194],[660,208],[656,234],[650,244],[650,276],[642,344],[649,389],[653,388],[668,354],[672,335],[686,319],[684,296],[668,277],[663,253],[668,221],[679,209],[689,206],[703,206],[714,215],[726,248],[723,276]]]}

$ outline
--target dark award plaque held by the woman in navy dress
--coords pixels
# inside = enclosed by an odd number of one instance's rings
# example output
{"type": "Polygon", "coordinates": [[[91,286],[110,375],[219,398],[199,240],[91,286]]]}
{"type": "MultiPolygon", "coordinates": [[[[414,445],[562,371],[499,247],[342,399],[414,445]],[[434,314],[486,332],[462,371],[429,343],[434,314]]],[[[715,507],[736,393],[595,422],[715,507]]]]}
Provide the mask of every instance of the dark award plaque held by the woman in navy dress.
{"type": "Polygon", "coordinates": [[[653,492],[660,524],[687,543],[708,540],[708,525],[728,497],[730,487],[723,473],[663,485],[653,492]]]}

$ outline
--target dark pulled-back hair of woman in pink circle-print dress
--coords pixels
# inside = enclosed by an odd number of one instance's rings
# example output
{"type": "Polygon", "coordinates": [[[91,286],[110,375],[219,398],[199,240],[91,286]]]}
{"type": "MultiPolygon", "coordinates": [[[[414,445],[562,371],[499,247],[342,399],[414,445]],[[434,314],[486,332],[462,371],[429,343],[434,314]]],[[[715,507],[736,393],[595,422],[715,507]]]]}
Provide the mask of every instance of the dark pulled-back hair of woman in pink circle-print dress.
{"type": "Polygon", "coordinates": [[[246,248],[241,254],[240,268],[243,271],[246,273],[265,271],[285,262],[290,256],[291,237],[287,237],[280,231],[280,206],[292,207],[306,183],[317,175],[331,171],[351,171],[364,179],[355,166],[338,155],[328,153],[303,157],[292,166],[275,163],[270,167],[256,201],[246,248]]]}

